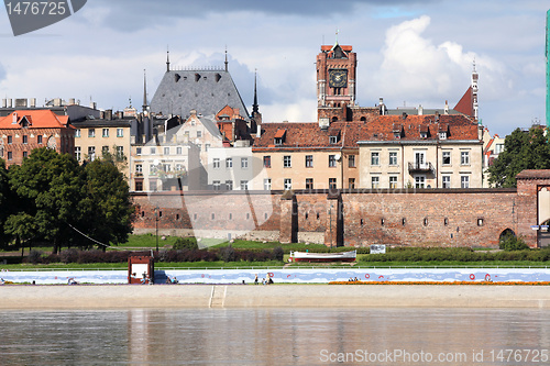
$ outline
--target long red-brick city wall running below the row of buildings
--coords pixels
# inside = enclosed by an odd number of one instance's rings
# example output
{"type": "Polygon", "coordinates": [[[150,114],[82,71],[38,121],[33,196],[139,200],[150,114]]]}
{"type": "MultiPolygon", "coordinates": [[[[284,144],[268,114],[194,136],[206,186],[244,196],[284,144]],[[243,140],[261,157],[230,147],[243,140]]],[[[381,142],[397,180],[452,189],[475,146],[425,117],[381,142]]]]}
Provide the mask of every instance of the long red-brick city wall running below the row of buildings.
{"type": "Polygon", "coordinates": [[[509,229],[536,246],[537,233],[530,225],[537,221],[537,190],[548,182],[518,180],[517,190],[135,193],[134,228],[153,232],[158,207],[158,228],[164,232],[231,232],[232,237],[254,232],[256,240],[273,240],[278,233],[282,243],[306,237],[346,246],[496,247],[503,231],[509,229]]]}

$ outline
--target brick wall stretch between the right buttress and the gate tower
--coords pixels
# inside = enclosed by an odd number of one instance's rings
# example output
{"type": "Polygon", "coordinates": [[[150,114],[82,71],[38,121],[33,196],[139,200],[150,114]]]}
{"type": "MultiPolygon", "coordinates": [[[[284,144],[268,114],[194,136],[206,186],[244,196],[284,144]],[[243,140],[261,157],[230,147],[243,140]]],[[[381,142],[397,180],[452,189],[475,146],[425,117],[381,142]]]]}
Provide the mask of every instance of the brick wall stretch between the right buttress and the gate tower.
{"type": "Polygon", "coordinates": [[[344,242],[495,247],[506,229],[526,233],[529,202],[509,189],[345,193],[344,242]]]}

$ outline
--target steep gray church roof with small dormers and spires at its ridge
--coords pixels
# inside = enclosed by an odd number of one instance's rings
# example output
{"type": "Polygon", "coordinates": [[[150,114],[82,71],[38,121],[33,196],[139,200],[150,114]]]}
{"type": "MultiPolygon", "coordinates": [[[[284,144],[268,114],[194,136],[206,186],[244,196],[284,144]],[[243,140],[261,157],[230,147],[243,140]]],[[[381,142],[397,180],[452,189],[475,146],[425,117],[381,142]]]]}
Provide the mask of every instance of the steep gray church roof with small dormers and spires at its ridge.
{"type": "Polygon", "coordinates": [[[249,120],[249,112],[231,74],[223,68],[169,70],[151,100],[151,111],[164,115],[189,117],[190,110],[202,115],[215,115],[223,107],[239,108],[249,120]]]}

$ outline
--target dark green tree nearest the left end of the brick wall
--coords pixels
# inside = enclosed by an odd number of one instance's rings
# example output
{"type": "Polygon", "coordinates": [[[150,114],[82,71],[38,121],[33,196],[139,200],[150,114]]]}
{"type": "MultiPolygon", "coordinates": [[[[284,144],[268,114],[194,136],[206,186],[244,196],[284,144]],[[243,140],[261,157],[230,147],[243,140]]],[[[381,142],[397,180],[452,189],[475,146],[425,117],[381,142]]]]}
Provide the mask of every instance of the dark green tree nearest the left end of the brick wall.
{"type": "Polygon", "coordinates": [[[80,228],[98,242],[125,243],[132,232],[135,208],[124,175],[111,159],[95,159],[85,166],[84,173],[80,228]]]}

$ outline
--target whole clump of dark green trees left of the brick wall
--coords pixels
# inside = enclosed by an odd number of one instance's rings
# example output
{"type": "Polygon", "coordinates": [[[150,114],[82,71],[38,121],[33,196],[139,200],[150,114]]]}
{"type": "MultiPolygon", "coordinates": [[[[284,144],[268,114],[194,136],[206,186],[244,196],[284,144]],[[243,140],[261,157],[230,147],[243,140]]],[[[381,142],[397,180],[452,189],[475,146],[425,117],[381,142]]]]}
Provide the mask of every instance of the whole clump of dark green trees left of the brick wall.
{"type": "Polygon", "coordinates": [[[47,243],[89,248],[125,243],[134,207],[114,157],[80,165],[41,147],[21,165],[0,159],[0,246],[47,243]],[[100,244],[101,243],[101,244],[100,244]]]}

